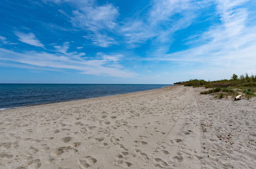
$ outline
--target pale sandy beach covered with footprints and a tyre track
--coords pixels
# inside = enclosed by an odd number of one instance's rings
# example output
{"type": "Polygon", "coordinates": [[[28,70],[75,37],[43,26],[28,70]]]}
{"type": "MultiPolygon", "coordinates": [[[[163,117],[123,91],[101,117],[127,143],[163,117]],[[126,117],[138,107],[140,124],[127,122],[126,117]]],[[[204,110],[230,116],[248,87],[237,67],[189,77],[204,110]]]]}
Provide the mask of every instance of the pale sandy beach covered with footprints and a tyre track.
{"type": "Polygon", "coordinates": [[[256,168],[256,100],[183,86],[0,111],[0,168],[256,168]]]}

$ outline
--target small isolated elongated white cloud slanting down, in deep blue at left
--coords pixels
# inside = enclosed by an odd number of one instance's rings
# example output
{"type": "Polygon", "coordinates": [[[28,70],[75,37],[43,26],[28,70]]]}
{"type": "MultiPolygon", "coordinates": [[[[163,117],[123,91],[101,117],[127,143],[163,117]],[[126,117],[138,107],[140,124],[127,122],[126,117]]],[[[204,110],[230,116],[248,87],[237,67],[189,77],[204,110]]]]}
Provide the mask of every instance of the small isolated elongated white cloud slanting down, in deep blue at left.
{"type": "Polygon", "coordinates": [[[19,41],[36,47],[44,47],[40,40],[36,39],[33,33],[14,32],[19,41]]]}

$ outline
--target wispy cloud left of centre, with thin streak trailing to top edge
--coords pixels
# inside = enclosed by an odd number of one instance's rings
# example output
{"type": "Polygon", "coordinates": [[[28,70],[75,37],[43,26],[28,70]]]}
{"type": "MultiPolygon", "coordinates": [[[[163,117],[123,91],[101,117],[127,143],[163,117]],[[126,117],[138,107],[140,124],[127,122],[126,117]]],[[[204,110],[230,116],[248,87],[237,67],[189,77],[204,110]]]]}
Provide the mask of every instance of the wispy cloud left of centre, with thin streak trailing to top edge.
{"type": "Polygon", "coordinates": [[[92,44],[104,48],[117,44],[113,37],[107,35],[117,26],[116,17],[119,16],[118,9],[112,4],[97,5],[95,1],[89,0],[72,2],[54,0],[46,2],[69,3],[73,7],[71,14],[64,10],[58,11],[66,16],[75,28],[84,30],[86,32],[84,37],[90,39],[92,44]]]}

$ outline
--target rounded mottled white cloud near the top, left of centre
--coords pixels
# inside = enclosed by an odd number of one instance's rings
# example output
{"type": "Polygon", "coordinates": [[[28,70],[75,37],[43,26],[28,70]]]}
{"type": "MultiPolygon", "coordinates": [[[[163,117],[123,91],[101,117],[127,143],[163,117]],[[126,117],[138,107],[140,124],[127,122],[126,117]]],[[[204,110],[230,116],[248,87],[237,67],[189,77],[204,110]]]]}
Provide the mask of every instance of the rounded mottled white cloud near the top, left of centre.
{"type": "Polygon", "coordinates": [[[115,19],[118,15],[118,10],[111,4],[102,6],[93,3],[80,4],[77,10],[73,11],[71,23],[75,27],[92,32],[90,37],[84,37],[91,39],[94,45],[106,48],[117,43],[114,38],[107,36],[106,33],[101,33],[101,31],[111,31],[117,25],[115,19]]]}

